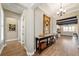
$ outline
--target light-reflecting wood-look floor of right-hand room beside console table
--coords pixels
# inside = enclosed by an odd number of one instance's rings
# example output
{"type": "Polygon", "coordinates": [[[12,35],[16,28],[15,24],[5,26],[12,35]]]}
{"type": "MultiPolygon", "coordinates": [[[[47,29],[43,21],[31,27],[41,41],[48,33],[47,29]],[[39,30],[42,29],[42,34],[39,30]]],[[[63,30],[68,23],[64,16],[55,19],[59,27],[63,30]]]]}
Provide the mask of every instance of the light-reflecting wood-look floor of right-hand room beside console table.
{"type": "Polygon", "coordinates": [[[72,37],[63,36],[38,56],[79,56],[79,48],[72,37]]]}

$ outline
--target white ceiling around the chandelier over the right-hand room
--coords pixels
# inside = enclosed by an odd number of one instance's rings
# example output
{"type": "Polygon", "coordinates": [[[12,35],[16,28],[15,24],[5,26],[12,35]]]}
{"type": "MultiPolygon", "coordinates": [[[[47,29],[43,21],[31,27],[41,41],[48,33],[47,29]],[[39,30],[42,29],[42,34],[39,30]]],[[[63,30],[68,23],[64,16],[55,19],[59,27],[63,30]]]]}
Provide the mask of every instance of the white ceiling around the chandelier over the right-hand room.
{"type": "MultiPolygon", "coordinates": [[[[78,3],[62,3],[62,5],[63,9],[65,9],[67,13],[79,10],[78,3]]],[[[45,3],[41,4],[40,7],[50,14],[56,14],[57,11],[59,11],[60,3],[45,3]]]]}

